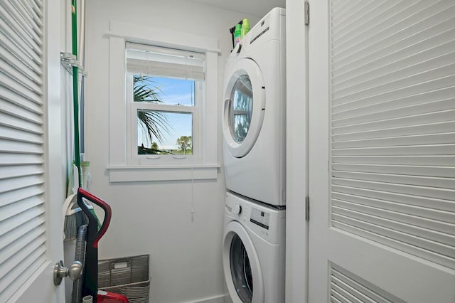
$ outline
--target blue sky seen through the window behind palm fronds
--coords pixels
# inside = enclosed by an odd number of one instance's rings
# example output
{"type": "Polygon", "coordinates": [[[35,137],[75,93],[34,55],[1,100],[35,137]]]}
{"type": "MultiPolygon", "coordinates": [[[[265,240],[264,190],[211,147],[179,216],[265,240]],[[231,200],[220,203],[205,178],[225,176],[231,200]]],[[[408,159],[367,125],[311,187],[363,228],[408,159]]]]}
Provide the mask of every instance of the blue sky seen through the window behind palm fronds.
{"type": "MultiPolygon", "coordinates": [[[[152,78],[154,85],[159,87],[161,92],[161,99],[167,105],[183,105],[191,106],[193,104],[192,98],[194,91],[193,80],[183,80],[175,78],[152,78]]],[[[176,114],[166,113],[168,122],[171,125],[171,134],[166,134],[166,139],[163,143],[157,142],[159,147],[162,145],[176,145],[176,140],[181,136],[191,136],[191,114],[176,114]]],[[[144,134],[141,129],[138,129],[137,139],[138,144],[141,145],[144,142],[144,134]]],[[[155,141],[155,140],[154,140],[155,141]]]]}

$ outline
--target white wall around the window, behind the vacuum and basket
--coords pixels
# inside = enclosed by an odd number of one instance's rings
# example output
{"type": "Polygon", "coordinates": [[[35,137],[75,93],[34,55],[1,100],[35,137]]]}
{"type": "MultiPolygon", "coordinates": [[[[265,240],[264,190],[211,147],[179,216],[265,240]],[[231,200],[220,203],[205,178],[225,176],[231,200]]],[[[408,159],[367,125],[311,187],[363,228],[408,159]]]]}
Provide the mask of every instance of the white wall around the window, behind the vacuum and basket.
{"type": "MultiPolygon", "coordinates": [[[[91,191],[105,199],[113,212],[111,225],[100,240],[100,259],[150,254],[151,302],[198,302],[225,294],[221,257],[223,170],[217,180],[193,184],[191,181],[109,184],[109,40],[103,35],[109,30],[109,21],[116,20],[218,38],[222,50],[218,62],[220,97],[225,60],[232,48],[229,28],[241,18],[250,18],[252,26],[259,19],[188,1],[87,1],[86,160],[91,162],[91,191]]],[[[213,115],[219,117],[220,108],[213,115]]],[[[218,148],[218,162],[222,164],[220,134],[213,146],[218,148]]]]}

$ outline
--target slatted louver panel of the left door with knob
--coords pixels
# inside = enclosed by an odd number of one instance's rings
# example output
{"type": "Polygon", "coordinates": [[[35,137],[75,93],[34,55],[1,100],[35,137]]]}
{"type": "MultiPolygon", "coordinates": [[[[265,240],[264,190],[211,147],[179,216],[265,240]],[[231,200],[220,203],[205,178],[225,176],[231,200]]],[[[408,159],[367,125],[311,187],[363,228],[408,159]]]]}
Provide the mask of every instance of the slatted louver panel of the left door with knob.
{"type": "Polygon", "coordinates": [[[0,302],[45,262],[43,1],[0,2],[0,302]]]}

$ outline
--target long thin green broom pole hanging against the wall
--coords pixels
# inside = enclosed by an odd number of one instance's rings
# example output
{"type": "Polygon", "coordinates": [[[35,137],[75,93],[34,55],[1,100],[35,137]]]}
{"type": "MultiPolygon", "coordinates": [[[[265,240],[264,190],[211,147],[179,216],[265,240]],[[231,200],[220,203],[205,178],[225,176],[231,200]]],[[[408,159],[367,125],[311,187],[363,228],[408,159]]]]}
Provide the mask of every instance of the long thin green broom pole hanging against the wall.
{"type": "MultiPolygon", "coordinates": [[[[71,0],[71,33],[73,41],[73,55],[77,60],[77,13],[76,13],[76,0],[71,0]]],[[[79,184],[82,184],[81,171],[80,171],[80,139],[79,139],[79,97],[77,95],[79,80],[79,69],[73,66],[73,119],[74,119],[74,156],[75,166],[79,174],[79,184]]]]}

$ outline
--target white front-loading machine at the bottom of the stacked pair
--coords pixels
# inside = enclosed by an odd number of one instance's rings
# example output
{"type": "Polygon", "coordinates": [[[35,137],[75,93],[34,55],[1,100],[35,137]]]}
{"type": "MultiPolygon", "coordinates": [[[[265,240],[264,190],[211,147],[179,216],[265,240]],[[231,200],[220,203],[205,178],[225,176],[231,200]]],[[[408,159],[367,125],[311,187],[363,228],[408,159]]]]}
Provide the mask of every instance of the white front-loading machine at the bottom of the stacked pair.
{"type": "Polygon", "coordinates": [[[226,193],[223,267],[233,303],[284,303],[284,209],[226,193]]]}

